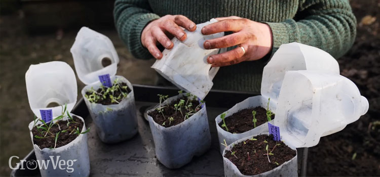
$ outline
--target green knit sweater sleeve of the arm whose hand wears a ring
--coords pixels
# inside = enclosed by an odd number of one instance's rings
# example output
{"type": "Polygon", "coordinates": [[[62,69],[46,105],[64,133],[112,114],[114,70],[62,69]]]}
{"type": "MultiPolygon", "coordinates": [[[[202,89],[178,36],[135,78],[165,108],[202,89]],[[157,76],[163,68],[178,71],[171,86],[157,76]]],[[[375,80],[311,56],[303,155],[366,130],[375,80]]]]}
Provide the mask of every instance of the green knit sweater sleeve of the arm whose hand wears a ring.
{"type": "Polygon", "coordinates": [[[300,42],[339,58],[356,36],[356,18],[347,0],[300,0],[294,20],[267,24],[273,33],[272,55],[284,43],[300,42]]]}

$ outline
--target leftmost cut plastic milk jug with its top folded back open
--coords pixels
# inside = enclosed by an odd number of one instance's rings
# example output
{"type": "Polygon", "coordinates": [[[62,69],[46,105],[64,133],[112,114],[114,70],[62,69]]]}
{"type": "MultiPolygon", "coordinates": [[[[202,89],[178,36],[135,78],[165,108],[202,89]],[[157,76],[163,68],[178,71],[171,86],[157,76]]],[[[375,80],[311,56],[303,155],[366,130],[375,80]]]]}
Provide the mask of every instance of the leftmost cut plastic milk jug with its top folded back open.
{"type": "MultiPolygon", "coordinates": [[[[25,74],[26,91],[29,105],[37,117],[41,117],[40,110],[52,109],[52,116],[57,117],[62,114],[62,108],[67,104],[66,110],[71,112],[75,103],[77,103],[77,79],[74,71],[65,62],[53,61],[30,65],[25,74]],[[57,103],[59,106],[47,108],[50,103],[57,103]]],[[[71,116],[77,116],[83,121],[82,132],[86,130],[85,121],[82,117],[70,113],[71,116]]],[[[67,116],[63,117],[63,121],[67,116]]],[[[54,121],[54,120],[53,120],[54,121]]],[[[42,124],[37,121],[36,125],[42,124]]],[[[31,132],[34,121],[29,123],[30,138],[33,143],[33,134],[31,132]]],[[[87,146],[87,134],[80,134],[67,145],[55,149],[41,149],[33,143],[36,160],[51,160],[58,158],[60,160],[74,160],[73,171],[68,172],[66,168],[56,169],[53,165],[47,168],[41,168],[42,176],[88,176],[90,174],[90,160],[87,146]]]]}

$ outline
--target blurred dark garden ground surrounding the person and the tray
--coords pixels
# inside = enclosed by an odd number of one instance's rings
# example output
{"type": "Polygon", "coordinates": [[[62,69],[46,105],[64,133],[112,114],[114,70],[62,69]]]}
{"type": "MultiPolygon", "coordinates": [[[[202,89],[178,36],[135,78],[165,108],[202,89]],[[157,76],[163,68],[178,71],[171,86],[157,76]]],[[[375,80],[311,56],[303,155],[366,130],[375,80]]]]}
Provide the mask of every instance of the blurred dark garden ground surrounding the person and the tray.
{"type": "MultiPolygon", "coordinates": [[[[309,149],[311,176],[380,176],[380,0],[350,4],[358,21],[356,41],[337,61],[341,74],[358,85],[370,107],[358,121],[309,149]]],[[[74,68],[69,50],[82,26],[112,40],[120,57],[118,75],[137,84],[157,82],[150,68],[154,60],[133,58],[119,39],[112,10],[112,0],[0,1],[0,176],[9,176],[11,156],[23,158],[32,150],[26,70],[48,61],[74,68]]],[[[77,82],[80,92],[84,84],[77,82]]]]}

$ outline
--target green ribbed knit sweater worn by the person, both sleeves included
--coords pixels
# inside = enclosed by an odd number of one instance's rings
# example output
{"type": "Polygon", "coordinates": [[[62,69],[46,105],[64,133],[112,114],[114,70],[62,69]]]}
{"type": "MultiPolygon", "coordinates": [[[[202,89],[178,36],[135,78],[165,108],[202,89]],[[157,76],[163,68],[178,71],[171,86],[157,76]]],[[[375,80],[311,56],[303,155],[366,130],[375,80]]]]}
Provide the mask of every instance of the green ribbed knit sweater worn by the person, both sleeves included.
{"type": "MultiPolygon", "coordinates": [[[[350,49],[356,35],[356,19],[348,0],[116,0],[116,28],[136,58],[153,58],[141,45],[142,29],[168,14],[184,15],[196,24],[227,16],[265,22],[273,33],[268,57],[284,43],[300,42],[338,58],[350,49]]],[[[213,89],[259,92],[267,61],[221,67],[213,89]]]]}

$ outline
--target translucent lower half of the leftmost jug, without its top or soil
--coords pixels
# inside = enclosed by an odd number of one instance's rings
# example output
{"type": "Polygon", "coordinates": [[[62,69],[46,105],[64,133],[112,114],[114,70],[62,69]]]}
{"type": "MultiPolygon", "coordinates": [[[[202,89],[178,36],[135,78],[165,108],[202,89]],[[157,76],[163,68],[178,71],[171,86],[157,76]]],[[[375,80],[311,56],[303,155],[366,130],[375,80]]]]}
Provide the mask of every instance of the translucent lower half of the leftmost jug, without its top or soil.
{"type": "MultiPolygon", "coordinates": [[[[77,116],[74,114],[71,114],[71,116],[77,116]]],[[[83,128],[82,131],[86,131],[86,125],[85,121],[83,120],[82,117],[77,116],[80,118],[83,122],[83,128]]],[[[63,121],[67,120],[67,116],[63,118],[63,121]]],[[[61,120],[62,121],[62,120],[61,120]]],[[[36,125],[42,124],[41,121],[38,121],[36,125]]],[[[31,121],[29,123],[29,130],[30,130],[30,138],[33,143],[33,134],[31,132],[32,128],[34,125],[34,121],[31,121]]],[[[89,154],[88,154],[88,147],[87,147],[87,134],[80,134],[77,138],[75,138],[73,141],[68,143],[67,145],[64,145],[59,148],[55,149],[49,149],[49,148],[44,148],[40,149],[38,145],[35,145],[33,143],[33,148],[34,148],[34,153],[37,161],[42,161],[42,160],[50,160],[51,163],[47,165],[47,168],[40,169],[41,175],[42,176],[89,176],[90,175],[90,159],[89,159],[89,154]],[[65,168],[60,169],[59,166],[57,166],[54,169],[54,166],[52,164],[52,159],[54,161],[58,160],[64,160],[67,162],[68,160],[77,160],[74,161],[71,166],[73,168],[72,172],[67,172],[67,164],[66,166],[63,166],[65,168]]],[[[70,171],[70,170],[69,170],[70,171]]]]}

